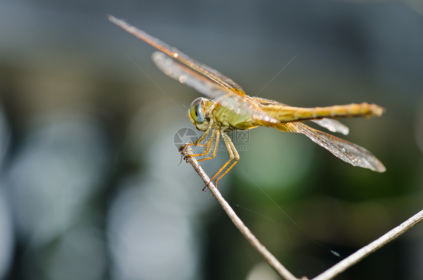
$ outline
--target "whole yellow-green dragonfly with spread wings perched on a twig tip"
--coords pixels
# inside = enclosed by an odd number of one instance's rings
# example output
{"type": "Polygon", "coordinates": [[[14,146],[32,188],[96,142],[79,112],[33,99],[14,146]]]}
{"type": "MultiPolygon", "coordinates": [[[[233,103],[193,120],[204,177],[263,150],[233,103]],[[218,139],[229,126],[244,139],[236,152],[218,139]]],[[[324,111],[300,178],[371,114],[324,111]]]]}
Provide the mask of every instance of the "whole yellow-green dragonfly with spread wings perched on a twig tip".
{"type": "Polygon", "coordinates": [[[152,54],[152,60],[162,72],[182,84],[193,87],[207,97],[195,99],[188,110],[188,117],[192,124],[197,130],[204,133],[198,140],[183,146],[203,146],[203,152],[189,156],[199,157],[198,161],[209,160],[216,156],[219,141],[223,140],[229,153],[229,160],[210,180],[210,182],[214,180],[215,185],[240,160],[240,155],[228,133],[258,126],[303,134],[344,162],[376,172],[386,171],[385,166],[363,147],[303,123],[303,121],[310,120],[331,132],[347,135],[348,127],[337,121],[336,118],[381,116],[385,111],[384,108],[365,102],[302,108],[288,106],[266,98],[251,97],[245,94],[239,84],[212,67],[194,60],[178,49],[121,19],[110,15],[108,18],[112,23],[159,50],[160,52],[152,54]]]}

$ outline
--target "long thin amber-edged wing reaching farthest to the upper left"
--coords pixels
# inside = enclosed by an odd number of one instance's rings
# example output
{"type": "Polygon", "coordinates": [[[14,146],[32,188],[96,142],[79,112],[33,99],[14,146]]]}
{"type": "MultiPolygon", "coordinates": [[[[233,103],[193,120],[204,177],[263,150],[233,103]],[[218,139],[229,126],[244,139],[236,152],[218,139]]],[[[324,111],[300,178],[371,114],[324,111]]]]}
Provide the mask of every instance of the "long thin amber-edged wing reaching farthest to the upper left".
{"type": "Polygon", "coordinates": [[[148,33],[146,33],[145,31],[141,29],[138,29],[136,27],[129,25],[123,20],[117,19],[114,16],[110,16],[110,15],[108,16],[108,18],[112,23],[123,28],[129,33],[135,35],[136,37],[140,38],[141,40],[145,41],[146,43],[150,44],[157,50],[165,53],[166,55],[179,60],[181,63],[201,73],[202,75],[206,76],[207,78],[214,81],[215,83],[220,84],[221,86],[229,90],[232,90],[233,92],[239,95],[245,94],[244,90],[239,84],[235,83],[234,81],[232,81],[231,79],[229,79],[228,77],[220,73],[219,71],[213,69],[212,67],[209,67],[201,62],[198,62],[195,59],[192,59],[191,57],[183,54],[178,49],[169,46],[168,44],[149,35],[148,33]]]}

